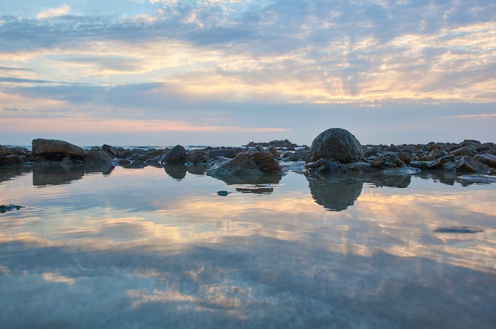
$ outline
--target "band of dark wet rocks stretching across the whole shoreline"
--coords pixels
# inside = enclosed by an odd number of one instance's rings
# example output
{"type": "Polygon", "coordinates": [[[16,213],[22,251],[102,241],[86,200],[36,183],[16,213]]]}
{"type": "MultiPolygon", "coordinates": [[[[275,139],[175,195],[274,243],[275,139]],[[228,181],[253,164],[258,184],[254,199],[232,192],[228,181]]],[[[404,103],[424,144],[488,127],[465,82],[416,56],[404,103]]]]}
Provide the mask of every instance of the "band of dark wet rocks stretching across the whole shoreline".
{"type": "Polygon", "coordinates": [[[35,139],[32,149],[0,145],[0,166],[43,164],[112,164],[124,167],[183,164],[201,166],[212,176],[283,175],[288,167],[308,173],[384,172],[425,170],[489,174],[496,168],[496,144],[464,140],[459,143],[361,145],[350,132],[331,128],[311,147],[284,141],[250,142],[245,147],[206,147],[186,150],[124,149],[104,144],[90,150],[60,140],[35,139]],[[254,145],[252,145],[254,144],[254,145]],[[266,146],[264,146],[266,145],[266,146]],[[289,163],[289,164],[288,164],[289,163]]]}

